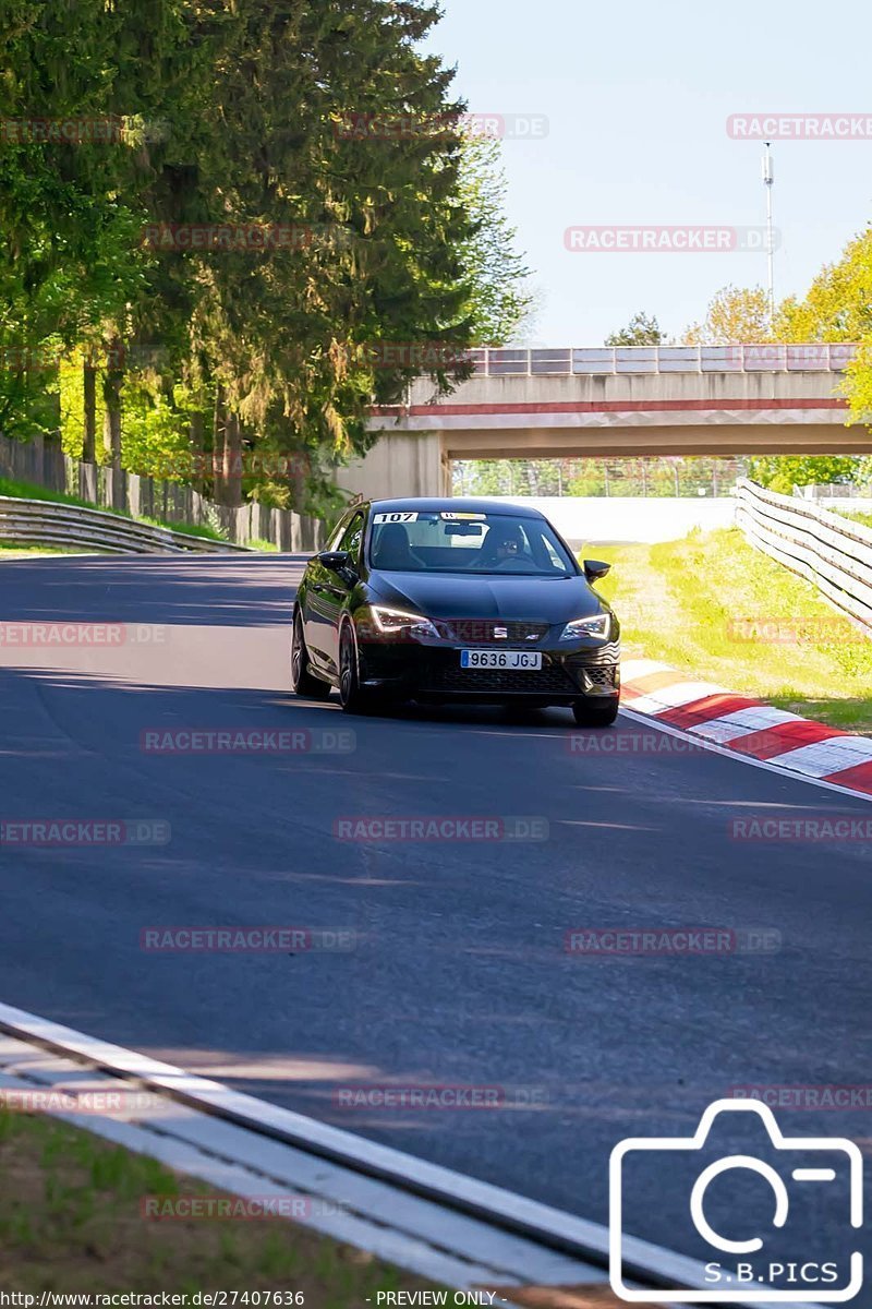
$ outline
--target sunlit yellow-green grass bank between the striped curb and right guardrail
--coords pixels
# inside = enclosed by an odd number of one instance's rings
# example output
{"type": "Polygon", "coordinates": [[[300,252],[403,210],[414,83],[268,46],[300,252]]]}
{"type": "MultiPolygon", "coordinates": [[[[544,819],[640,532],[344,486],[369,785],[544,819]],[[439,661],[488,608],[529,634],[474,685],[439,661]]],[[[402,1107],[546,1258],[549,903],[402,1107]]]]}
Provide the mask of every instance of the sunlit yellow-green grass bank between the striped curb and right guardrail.
{"type": "Polygon", "coordinates": [[[736,528],[655,546],[596,546],[624,653],[872,734],[872,637],[736,528]]]}

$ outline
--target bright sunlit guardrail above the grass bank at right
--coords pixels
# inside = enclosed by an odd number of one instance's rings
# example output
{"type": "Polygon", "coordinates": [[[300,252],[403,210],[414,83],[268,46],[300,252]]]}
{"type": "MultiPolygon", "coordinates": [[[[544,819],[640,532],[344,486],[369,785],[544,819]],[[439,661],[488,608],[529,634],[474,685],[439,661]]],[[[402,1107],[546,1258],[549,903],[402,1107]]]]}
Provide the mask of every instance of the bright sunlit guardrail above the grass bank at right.
{"type": "Polygon", "coordinates": [[[872,528],[745,479],[736,496],[736,522],[753,546],[872,631],[872,528]]]}

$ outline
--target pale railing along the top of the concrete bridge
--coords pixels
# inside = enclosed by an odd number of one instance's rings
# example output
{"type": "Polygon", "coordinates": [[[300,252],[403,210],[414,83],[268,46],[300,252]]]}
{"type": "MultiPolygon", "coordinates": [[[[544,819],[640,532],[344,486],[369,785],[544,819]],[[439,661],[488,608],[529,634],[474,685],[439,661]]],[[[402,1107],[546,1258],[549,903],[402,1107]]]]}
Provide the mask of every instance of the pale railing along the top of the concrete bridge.
{"type": "Polygon", "coordinates": [[[620,373],[842,373],[852,344],[597,346],[471,350],[485,377],[573,377],[620,373]]]}

